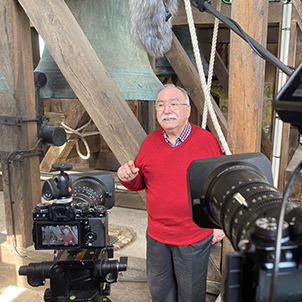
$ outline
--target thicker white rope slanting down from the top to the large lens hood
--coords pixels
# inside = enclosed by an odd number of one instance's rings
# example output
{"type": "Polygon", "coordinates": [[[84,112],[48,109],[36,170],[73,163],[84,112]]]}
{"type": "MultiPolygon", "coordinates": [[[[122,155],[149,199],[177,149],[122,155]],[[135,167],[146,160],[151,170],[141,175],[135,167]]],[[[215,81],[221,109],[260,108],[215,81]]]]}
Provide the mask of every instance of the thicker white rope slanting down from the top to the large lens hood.
{"type": "Polygon", "coordinates": [[[208,107],[208,110],[210,113],[210,117],[213,121],[213,125],[214,125],[216,133],[218,135],[218,139],[221,142],[222,148],[223,148],[225,154],[229,155],[229,154],[231,154],[231,151],[229,149],[229,146],[226,142],[226,139],[223,135],[223,132],[222,132],[219,122],[217,120],[217,117],[216,117],[216,114],[215,114],[215,111],[214,111],[214,108],[212,105],[212,101],[211,101],[210,88],[208,87],[208,84],[206,82],[203,65],[202,65],[202,61],[201,61],[201,56],[200,56],[200,51],[199,51],[199,47],[198,47],[196,30],[195,30],[195,26],[194,26],[191,3],[190,3],[190,0],[184,0],[184,2],[185,2],[185,9],[186,9],[186,13],[187,13],[189,30],[190,30],[190,35],[191,35],[191,40],[192,40],[192,45],[193,45],[193,52],[195,55],[195,60],[196,60],[197,69],[198,69],[198,73],[199,73],[199,77],[200,77],[201,87],[203,89],[204,96],[205,96],[205,103],[207,104],[207,107],[208,107]]]}

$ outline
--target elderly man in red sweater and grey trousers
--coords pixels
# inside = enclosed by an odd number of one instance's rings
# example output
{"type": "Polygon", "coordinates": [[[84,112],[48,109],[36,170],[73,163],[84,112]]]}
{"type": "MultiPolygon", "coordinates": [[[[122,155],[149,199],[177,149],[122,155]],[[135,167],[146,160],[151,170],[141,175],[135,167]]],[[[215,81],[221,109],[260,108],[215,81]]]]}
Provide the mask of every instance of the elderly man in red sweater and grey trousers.
{"type": "Polygon", "coordinates": [[[189,123],[187,92],[166,85],[155,108],[162,129],[143,141],[134,162],[118,169],[131,191],[146,190],[148,212],[147,278],[154,302],[201,302],[206,296],[211,242],[223,233],[192,221],[186,171],[192,160],[222,155],[215,137],[189,123]]]}

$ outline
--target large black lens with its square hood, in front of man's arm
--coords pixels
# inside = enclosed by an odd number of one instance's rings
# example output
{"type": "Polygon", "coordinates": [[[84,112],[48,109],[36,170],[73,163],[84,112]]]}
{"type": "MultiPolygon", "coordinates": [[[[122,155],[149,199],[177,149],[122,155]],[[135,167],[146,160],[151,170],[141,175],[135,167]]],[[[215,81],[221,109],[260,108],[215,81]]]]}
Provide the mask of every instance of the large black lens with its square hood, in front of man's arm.
{"type": "Polygon", "coordinates": [[[188,168],[191,216],[200,227],[222,228],[235,250],[261,217],[277,217],[282,194],[261,153],[193,161],[188,168]]]}

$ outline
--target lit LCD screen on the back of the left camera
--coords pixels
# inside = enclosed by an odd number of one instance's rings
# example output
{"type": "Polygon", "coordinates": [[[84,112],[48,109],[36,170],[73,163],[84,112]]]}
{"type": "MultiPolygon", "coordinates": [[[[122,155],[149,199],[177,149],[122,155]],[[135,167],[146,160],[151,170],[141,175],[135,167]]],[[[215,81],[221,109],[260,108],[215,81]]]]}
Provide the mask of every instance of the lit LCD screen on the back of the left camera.
{"type": "Polygon", "coordinates": [[[67,249],[79,247],[78,223],[36,225],[40,249],[67,249]]]}

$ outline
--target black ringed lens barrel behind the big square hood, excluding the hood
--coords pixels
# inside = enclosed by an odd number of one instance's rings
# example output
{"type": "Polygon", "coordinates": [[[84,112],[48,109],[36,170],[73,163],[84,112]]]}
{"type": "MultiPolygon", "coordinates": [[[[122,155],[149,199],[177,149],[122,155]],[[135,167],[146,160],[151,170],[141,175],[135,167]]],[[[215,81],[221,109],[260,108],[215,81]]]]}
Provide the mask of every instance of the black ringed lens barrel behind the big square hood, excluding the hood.
{"type": "Polygon", "coordinates": [[[234,165],[213,174],[204,188],[210,212],[238,250],[257,218],[277,215],[282,195],[253,167],[234,165]]]}

